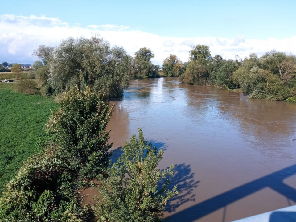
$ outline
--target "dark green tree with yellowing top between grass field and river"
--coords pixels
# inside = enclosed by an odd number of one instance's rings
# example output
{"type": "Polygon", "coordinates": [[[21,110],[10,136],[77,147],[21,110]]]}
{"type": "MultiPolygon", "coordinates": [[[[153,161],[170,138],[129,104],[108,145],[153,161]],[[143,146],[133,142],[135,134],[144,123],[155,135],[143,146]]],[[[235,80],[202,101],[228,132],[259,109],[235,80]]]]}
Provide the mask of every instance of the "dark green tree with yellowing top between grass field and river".
{"type": "Polygon", "coordinates": [[[105,171],[111,144],[106,126],[113,113],[109,101],[98,93],[73,90],[63,93],[60,111],[52,112],[46,130],[59,145],[58,156],[69,163],[77,174],[93,178],[105,171]]]}

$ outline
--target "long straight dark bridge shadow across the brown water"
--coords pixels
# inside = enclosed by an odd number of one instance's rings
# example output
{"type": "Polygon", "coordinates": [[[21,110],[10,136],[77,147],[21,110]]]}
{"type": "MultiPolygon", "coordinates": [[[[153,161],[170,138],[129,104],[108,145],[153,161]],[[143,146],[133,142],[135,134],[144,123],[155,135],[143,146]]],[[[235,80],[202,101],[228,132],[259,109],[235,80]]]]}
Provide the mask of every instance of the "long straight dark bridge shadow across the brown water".
{"type": "MultiPolygon", "coordinates": [[[[276,171],[267,176],[261,177],[249,183],[246,183],[240,187],[236,187],[230,191],[224,192],[220,195],[217,195],[211,199],[205,200],[199,204],[196,204],[190,208],[182,210],[168,218],[166,218],[165,222],[192,222],[202,218],[220,208],[224,208],[227,205],[244,198],[256,191],[259,191],[263,188],[269,187],[274,191],[286,196],[287,198],[296,201],[296,190],[285,183],[283,180],[296,174],[296,164],[290,167],[286,167],[280,171],[276,171]]],[[[277,217],[272,216],[273,218],[277,217]]],[[[270,219],[272,219],[270,217],[270,219]]],[[[280,221],[272,219],[270,221],[280,221]]],[[[285,220],[289,221],[289,220],[285,220]]],[[[295,220],[293,220],[295,221],[295,220]]]]}

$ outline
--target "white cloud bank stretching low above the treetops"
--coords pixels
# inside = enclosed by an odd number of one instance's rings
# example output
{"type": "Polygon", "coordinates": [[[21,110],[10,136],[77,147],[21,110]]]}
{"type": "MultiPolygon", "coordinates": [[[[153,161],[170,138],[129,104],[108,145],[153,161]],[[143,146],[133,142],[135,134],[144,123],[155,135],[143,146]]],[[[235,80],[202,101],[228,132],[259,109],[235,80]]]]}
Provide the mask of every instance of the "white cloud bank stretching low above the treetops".
{"type": "Polygon", "coordinates": [[[128,26],[114,24],[90,24],[87,27],[69,25],[58,18],[36,16],[0,15],[0,63],[33,63],[37,58],[31,54],[39,45],[56,46],[68,37],[91,37],[98,34],[109,41],[110,45],[123,46],[129,55],[134,55],[141,47],[150,48],[155,58],[154,64],[162,65],[169,54],[176,54],[183,62],[188,60],[191,46],[205,44],[212,55],[221,55],[224,59],[241,58],[250,53],[259,55],[278,50],[296,53],[296,35],[285,39],[245,39],[244,35],[234,38],[177,38],[164,37],[154,33],[131,30],[128,26]]]}

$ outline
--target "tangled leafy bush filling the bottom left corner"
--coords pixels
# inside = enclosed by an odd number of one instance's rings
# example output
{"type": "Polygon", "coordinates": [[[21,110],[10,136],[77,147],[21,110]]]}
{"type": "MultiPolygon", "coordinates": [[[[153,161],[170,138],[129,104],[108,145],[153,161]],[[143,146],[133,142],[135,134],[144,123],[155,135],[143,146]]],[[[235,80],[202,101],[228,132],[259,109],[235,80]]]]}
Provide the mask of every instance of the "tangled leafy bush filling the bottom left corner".
{"type": "Polygon", "coordinates": [[[8,221],[84,221],[73,175],[65,163],[45,155],[30,157],[0,199],[0,218],[8,221]]]}

